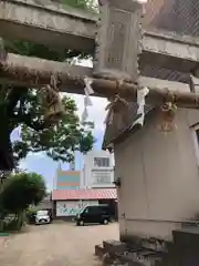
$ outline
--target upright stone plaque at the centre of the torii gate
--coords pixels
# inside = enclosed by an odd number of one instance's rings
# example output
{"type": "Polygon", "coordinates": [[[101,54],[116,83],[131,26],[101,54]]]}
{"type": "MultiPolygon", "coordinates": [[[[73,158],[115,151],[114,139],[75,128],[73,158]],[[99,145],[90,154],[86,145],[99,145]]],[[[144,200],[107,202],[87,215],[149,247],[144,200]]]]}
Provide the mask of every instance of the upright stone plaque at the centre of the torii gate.
{"type": "Polygon", "coordinates": [[[94,76],[136,82],[142,52],[143,6],[136,0],[98,0],[94,76]]]}

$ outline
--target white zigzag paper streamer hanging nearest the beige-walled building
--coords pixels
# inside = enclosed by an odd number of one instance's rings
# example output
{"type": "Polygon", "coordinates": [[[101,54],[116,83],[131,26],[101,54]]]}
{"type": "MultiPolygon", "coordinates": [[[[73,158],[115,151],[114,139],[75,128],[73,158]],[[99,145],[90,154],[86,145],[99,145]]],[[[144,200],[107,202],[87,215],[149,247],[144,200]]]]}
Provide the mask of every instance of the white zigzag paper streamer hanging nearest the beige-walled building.
{"type": "Polygon", "coordinates": [[[146,86],[137,90],[137,104],[138,104],[137,115],[140,115],[140,116],[133,123],[132,127],[134,127],[135,124],[140,124],[142,126],[144,125],[145,99],[148,93],[149,93],[149,90],[146,86]]]}

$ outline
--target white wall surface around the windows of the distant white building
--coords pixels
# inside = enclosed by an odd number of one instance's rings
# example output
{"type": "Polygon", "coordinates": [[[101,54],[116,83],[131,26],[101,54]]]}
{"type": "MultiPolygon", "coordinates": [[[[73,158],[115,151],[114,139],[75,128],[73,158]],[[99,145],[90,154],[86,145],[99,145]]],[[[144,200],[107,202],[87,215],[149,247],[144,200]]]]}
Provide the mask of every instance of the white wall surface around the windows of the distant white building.
{"type": "Polygon", "coordinates": [[[83,157],[84,166],[81,174],[81,185],[82,187],[114,187],[114,156],[107,151],[91,151],[83,157]],[[108,157],[109,166],[108,167],[97,167],[94,165],[95,157],[108,157]],[[93,178],[94,171],[108,172],[111,175],[109,184],[95,184],[93,178]]]}

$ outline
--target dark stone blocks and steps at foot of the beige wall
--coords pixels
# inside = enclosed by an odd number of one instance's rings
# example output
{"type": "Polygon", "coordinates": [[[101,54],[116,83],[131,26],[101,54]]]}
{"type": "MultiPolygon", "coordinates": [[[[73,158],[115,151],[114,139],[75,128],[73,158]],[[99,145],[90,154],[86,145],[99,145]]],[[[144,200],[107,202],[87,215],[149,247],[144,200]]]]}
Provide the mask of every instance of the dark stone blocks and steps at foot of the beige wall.
{"type": "Polygon", "coordinates": [[[172,236],[165,250],[151,244],[163,243],[163,239],[135,238],[132,242],[104,241],[103,245],[95,246],[95,255],[103,260],[103,265],[198,266],[199,227],[175,231],[172,236]]]}

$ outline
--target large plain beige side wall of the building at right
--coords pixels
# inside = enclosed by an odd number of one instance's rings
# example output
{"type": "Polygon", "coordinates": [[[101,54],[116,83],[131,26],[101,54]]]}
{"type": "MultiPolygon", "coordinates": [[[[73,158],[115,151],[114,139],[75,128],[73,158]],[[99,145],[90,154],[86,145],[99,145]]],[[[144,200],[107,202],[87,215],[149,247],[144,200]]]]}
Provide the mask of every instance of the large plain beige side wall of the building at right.
{"type": "Polygon", "coordinates": [[[143,130],[115,144],[123,237],[170,239],[172,229],[199,213],[198,161],[189,129],[197,120],[199,111],[179,110],[177,130],[163,133],[153,113],[143,130]]]}

